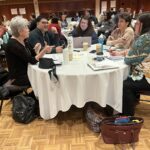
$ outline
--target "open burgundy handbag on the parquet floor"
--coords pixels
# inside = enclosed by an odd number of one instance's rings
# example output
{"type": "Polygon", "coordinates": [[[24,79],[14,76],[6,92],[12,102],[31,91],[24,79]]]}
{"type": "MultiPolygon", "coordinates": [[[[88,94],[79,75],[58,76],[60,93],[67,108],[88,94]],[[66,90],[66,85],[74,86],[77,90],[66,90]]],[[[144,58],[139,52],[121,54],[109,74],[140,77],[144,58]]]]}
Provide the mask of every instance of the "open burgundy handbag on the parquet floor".
{"type": "Polygon", "coordinates": [[[106,118],[102,121],[101,135],[106,144],[128,144],[139,140],[139,133],[144,120],[139,117],[130,117],[138,122],[115,124],[116,118],[106,118]]]}

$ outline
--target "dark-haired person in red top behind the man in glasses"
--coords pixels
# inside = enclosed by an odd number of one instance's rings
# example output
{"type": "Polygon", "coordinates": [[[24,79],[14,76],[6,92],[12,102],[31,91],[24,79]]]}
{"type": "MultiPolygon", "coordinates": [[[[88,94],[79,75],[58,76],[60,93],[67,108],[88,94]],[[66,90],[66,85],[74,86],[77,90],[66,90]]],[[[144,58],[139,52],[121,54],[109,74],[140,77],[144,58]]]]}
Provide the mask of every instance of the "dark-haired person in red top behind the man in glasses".
{"type": "Polygon", "coordinates": [[[57,17],[52,18],[51,24],[48,26],[48,30],[51,30],[54,33],[61,35],[61,27],[59,25],[59,19],[57,17]]]}

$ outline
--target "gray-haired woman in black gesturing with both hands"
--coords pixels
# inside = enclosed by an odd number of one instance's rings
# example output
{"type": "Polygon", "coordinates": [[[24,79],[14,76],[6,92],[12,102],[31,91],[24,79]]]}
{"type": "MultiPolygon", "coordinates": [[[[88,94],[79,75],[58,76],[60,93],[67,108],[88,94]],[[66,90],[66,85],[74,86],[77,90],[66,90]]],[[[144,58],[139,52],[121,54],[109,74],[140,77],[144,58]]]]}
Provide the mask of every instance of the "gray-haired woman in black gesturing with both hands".
{"type": "Polygon", "coordinates": [[[12,18],[10,22],[12,37],[6,46],[6,59],[12,85],[30,85],[27,66],[28,63],[36,64],[43,55],[51,51],[50,46],[45,46],[37,55],[35,51],[41,49],[37,43],[31,49],[26,39],[29,37],[28,21],[20,16],[12,18]]]}

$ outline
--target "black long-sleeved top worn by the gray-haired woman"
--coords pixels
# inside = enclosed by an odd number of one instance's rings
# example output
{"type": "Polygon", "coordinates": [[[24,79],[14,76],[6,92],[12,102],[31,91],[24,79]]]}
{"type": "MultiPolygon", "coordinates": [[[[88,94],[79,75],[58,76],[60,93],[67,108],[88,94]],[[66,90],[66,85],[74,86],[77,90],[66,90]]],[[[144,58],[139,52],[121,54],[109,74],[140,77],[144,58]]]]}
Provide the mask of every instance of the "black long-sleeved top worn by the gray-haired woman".
{"type": "Polygon", "coordinates": [[[6,46],[6,59],[9,70],[9,79],[14,79],[14,85],[30,85],[27,67],[28,63],[36,64],[35,52],[28,43],[23,46],[16,39],[10,39],[6,46]]]}

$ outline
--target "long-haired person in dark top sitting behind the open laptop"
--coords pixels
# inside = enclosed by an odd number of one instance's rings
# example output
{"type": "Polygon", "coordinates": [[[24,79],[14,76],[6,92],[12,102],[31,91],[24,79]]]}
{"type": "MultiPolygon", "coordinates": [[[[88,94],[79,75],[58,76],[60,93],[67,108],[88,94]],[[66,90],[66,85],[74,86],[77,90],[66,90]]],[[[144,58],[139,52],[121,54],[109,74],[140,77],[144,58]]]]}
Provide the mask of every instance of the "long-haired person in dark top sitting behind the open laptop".
{"type": "Polygon", "coordinates": [[[85,37],[91,36],[92,37],[92,44],[98,43],[98,37],[94,28],[92,26],[91,20],[89,17],[82,17],[80,23],[76,29],[72,31],[73,37],[85,37]]]}

